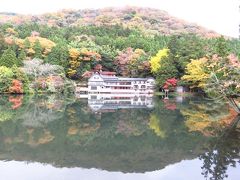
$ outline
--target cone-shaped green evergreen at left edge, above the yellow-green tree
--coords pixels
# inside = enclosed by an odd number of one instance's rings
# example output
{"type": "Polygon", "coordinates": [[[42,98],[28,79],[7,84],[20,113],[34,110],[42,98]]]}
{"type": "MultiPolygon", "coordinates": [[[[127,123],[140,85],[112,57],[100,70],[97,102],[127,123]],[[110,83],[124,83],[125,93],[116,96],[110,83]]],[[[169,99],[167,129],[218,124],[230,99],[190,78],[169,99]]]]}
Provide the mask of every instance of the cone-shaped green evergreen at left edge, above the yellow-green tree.
{"type": "Polygon", "coordinates": [[[8,48],[0,58],[0,66],[12,67],[13,65],[20,66],[21,62],[17,59],[15,52],[8,48]]]}

